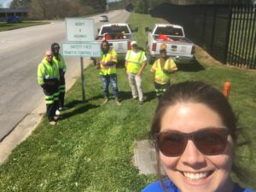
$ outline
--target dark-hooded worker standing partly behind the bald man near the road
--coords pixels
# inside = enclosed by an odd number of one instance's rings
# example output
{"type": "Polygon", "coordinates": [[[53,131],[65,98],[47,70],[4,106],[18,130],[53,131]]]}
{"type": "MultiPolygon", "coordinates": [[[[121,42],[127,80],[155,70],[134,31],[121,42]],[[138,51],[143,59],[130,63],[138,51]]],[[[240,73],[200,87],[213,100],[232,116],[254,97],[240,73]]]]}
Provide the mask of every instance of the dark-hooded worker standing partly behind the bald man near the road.
{"type": "MultiPolygon", "coordinates": [[[[67,71],[67,66],[64,61],[63,56],[60,54],[60,45],[57,43],[51,44],[51,51],[54,55],[53,61],[57,63],[59,67],[59,73],[60,73],[60,82],[59,82],[59,111],[66,110],[67,107],[64,106],[64,98],[65,98],[65,92],[66,92],[66,81],[65,81],[65,73],[67,71]]],[[[56,111],[57,114],[60,112],[56,111]]]]}

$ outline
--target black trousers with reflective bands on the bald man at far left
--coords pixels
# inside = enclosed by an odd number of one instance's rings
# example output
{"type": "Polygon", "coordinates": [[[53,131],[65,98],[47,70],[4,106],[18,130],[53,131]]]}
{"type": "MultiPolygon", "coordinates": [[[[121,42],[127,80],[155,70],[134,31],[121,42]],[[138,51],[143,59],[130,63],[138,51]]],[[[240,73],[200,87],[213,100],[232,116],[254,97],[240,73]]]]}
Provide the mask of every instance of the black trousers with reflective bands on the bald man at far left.
{"type": "Polygon", "coordinates": [[[55,112],[59,104],[59,87],[58,84],[45,85],[44,95],[46,103],[46,114],[49,121],[55,117],[55,112]]]}

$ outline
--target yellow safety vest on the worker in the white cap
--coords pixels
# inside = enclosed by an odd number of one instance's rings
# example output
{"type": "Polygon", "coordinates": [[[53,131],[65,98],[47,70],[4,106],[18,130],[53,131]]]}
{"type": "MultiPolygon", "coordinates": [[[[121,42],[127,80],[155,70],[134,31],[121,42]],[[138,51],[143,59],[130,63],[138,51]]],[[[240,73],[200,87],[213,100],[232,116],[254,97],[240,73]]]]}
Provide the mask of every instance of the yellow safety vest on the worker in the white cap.
{"type": "Polygon", "coordinates": [[[137,56],[135,58],[131,58],[131,51],[128,50],[127,52],[127,68],[126,71],[128,73],[138,73],[140,68],[142,67],[143,58],[145,55],[145,52],[142,50],[138,50],[137,56]]]}

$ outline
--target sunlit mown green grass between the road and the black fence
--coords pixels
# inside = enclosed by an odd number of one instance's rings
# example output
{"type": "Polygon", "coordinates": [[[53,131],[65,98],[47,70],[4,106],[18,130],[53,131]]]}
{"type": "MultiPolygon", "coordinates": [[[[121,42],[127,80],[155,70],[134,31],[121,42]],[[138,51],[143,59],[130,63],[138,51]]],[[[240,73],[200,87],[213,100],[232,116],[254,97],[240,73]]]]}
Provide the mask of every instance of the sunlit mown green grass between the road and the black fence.
{"type": "MultiPolygon", "coordinates": [[[[135,38],[145,48],[145,26],[159,22],[148,15],[132,14],[131,26],[139,26],[135,38]]],[[[178,65],[172,83],[203,80],[223,90],[231,82],[230,102],[240,116],[241,125],[256,148],[256,73],[218,65],[201,49],[196,49],[195,64],[178,65]]],[[[157,99],[148,66],[143,73],[143,106],[131,100],[125,70],[118,68],[122,106],[111,100],[102,105],[102,84],[96,67],[85,70],[85,95],[81,81],[67,93],[70,107],[55,127],[44,118],[32,136],[21,143],[0,166],[0,191],[86,191],[138,192],[155,180],[138,174],[132,165],[134,142],[147,138],[157,99]]],[[[254,157],[255,157],[255,152],[254,157]]],[[[250,169],[256,173],[255,161],[250,169]]],[[[254,180],[255,181],[255,180],[254,180]]],[[[256,187],[254,186],[254,189],[256,187]]]]}

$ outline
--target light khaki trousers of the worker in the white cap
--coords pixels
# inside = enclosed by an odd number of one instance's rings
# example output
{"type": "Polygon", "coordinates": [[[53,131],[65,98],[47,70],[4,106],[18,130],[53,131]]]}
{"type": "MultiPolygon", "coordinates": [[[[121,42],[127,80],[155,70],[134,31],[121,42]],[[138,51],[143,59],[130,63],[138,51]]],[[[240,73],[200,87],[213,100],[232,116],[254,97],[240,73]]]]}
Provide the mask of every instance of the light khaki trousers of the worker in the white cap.
{"type": "Polygon", "coordinates": [[[143,86],[142,77],[137,76],[134,73],[128,73],[129,84],[131,86],[131,93],[133,98],[139,98],[139,101],[143,101],[143,86]]]}

